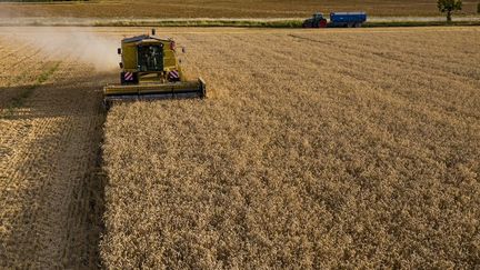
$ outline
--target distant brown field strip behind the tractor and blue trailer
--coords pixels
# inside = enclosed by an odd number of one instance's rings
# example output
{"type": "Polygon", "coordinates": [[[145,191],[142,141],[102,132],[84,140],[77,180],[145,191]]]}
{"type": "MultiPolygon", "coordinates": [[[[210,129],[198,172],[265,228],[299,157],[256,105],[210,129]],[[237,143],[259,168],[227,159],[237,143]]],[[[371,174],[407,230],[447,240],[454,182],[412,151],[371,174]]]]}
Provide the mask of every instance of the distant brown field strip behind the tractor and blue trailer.
{"type": "MultiPolygon", "coordinates": [[[[100,0],[60,3],[0,3],[0,18],[302,18],[313,11],[364,10],[372,16],[439,16],[436,1],[418,0],[100,0]]],[[[464,0],[460,14],[476,14],[464,0]]]]}

